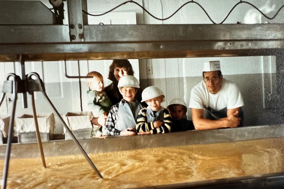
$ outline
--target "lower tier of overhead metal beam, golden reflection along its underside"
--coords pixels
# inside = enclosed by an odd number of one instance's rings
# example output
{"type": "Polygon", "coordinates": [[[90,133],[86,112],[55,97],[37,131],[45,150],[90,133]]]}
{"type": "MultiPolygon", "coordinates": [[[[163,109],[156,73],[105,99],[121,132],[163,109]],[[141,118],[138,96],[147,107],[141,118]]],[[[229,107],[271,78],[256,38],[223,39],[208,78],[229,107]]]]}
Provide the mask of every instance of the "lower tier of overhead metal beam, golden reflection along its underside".
{"type": "Polygon", "coordinates": [[[16,61],[17,54],[25,61],[267,56],[283,48],[283,41],[17,44],[0,45],[0,62],[16,61]]]}

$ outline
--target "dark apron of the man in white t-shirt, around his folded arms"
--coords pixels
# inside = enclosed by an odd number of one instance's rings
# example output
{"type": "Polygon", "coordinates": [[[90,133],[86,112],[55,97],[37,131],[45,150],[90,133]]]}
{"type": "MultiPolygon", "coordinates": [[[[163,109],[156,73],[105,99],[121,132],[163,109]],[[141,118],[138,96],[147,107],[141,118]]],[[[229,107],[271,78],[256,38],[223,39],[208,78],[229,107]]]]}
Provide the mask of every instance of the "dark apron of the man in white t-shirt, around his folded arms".
{"type": "MultiPolygon", "coordinates": [[[[221,119],[223,117],[227,117],[227,107],[220,109],[220,110],[214,110],[211,107],[208,107],[208,109],[206,109],[206,118],[207,119],[211,119],[211,120],[217,120],[217,119],[221,119]]],[[[240,121],[240,125],[238,125],[238,127],[243,126],[243,109],[240,107],[239,110],[239,117],[241,118],[240,121]]]]}

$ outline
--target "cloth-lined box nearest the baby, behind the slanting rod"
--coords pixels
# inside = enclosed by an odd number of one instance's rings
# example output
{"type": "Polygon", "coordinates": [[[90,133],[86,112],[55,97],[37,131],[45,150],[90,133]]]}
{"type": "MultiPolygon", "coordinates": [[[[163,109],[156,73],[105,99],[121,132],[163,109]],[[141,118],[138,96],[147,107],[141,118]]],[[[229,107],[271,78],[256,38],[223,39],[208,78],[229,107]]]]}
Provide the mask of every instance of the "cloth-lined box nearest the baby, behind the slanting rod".
{"type": "MultiPolygon", "coordinates": [[[[63,119],[73,135],[77,139],[91,138],[93,129],[91,118],[92,112],[67,112],[63,119]]],[[[65,139],[70,140],[71,136],[64,127],[65,139]]]]}

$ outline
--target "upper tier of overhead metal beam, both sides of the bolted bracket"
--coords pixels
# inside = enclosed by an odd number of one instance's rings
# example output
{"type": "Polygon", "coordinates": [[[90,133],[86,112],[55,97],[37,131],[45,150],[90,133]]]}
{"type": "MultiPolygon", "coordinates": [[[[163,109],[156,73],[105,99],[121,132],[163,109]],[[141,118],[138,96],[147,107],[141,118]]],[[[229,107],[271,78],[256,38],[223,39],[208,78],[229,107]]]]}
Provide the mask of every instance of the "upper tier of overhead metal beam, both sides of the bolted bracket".
{"type": "MultiPolygon", "coordinates": [[[[284,24],[84,25],[83,29],[85,42],[93,43],[284,40],[284,24]]],[[[71,43],[68,30],[68,25],[0,25],[0,44],[71,43]]]]}

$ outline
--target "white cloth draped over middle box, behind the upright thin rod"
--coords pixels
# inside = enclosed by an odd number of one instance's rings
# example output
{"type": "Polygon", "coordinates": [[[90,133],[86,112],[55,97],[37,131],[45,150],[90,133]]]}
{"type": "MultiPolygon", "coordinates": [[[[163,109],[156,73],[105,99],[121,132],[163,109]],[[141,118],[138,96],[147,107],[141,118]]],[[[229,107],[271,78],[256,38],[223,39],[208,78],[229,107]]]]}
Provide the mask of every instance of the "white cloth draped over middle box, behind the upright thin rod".
{"type": "MultiPolygon", "coordinates": [[[[55,127],[53,113],[38,113],[38,127],[40,133],[52,134],[55,127]]],[[[35,131],[35,120],[33,115],[24,114],[16,120],[17,133],[29,133],[35,131]]]]}

